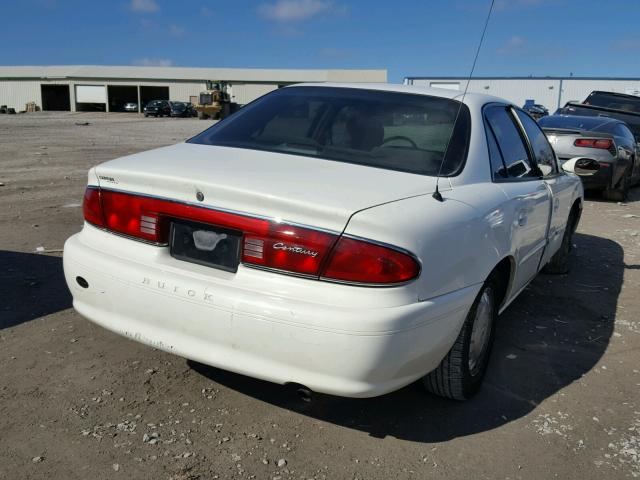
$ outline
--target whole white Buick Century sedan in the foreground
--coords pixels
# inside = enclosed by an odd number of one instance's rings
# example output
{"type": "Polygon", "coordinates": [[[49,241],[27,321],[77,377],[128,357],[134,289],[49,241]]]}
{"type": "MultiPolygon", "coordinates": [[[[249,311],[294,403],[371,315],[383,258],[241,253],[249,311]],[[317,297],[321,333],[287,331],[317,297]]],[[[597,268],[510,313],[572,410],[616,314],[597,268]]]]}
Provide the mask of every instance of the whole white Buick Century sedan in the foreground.
{"type": "Polygon", "coordinates": [[[92,168],[64,270],[80,314],[198,362],[466,399],[498,314],[543,267],[566,271],[582,201],[504,100],[298,85],[92,168]]]}

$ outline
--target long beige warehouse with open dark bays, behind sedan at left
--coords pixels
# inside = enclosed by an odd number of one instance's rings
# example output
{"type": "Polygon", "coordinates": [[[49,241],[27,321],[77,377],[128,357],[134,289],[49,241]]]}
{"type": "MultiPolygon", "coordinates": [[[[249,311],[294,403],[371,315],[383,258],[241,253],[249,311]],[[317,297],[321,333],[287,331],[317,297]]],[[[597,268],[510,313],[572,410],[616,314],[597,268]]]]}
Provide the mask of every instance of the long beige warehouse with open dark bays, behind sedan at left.
{"type": "Polygon", "coordinates": [[[300,82],[386,82],[386,70],[283,70],[137,66],[0,66],[0,105],[42,110],[122,111],[151,100],[195,101],[206,81],[226,81],[244,105],[300,82]]]}

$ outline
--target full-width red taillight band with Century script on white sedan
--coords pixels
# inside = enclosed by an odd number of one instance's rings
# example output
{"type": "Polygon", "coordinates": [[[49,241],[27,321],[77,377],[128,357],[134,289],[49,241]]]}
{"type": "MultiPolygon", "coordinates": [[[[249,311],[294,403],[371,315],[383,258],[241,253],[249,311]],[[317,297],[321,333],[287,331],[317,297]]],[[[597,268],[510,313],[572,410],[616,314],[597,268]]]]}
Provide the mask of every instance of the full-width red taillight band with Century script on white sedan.
{"type": "Polygon", "coordinates": [[[85,192],[84,217],[99,227],[158,244],[168,242],[171,219],[237,230],[243,235],[243,263],[327,280],[394,284],[420,273],[411,255],[365,240],[94,187],[85,192]]]}

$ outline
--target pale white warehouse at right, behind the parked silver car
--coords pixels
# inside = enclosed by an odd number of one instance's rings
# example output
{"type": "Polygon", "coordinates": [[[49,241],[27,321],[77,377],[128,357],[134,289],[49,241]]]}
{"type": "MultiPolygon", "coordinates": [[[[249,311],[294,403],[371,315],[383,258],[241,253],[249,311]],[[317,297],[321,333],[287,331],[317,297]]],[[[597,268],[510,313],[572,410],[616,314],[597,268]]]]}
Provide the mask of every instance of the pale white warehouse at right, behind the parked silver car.
{"type": "MultiPolygon", "coordinates": [[[[464,91],[466,77],[406,77],[406,85],[464,91]]],[[[527,100],[553,113],[567,102],[582,102],[593,90],[640,95],[640,78],[596,77],[474,77],[469,91],[504,98],[523,106],[527,100]]]]}

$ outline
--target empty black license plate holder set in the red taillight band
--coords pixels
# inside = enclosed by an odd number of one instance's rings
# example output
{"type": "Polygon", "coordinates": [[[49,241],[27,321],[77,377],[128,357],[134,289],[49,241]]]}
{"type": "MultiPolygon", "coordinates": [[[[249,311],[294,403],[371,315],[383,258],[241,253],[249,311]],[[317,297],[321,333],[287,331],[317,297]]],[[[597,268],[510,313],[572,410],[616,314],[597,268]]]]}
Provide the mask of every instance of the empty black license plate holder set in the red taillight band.
{"type": "Polygon", "coordinates": [[[206,223],[171,222],[169,253],[173,258],[236,273],[242,233],[206,223]]]}

